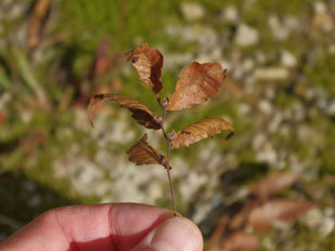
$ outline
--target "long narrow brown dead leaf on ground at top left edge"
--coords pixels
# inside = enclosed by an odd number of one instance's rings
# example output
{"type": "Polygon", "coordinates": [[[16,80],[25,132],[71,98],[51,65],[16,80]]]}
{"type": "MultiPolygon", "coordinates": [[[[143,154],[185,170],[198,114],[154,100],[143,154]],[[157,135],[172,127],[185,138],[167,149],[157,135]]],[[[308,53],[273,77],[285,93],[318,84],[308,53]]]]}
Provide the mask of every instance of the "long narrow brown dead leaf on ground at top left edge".
{"type": "Polygon", "coordinates": [[[49,6],[50,0],[38,0],[35,4],[28,31],[28,45],[30,49],[35,49],[40,42],[42,22],[47,16],[49,6]]]}

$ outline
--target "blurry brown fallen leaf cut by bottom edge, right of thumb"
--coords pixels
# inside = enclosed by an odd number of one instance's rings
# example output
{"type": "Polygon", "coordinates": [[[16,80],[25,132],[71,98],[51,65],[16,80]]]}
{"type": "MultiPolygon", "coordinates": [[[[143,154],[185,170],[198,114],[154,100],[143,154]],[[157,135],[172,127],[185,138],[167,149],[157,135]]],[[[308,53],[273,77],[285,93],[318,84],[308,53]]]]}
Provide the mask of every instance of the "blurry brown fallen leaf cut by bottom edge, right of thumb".
{"type": "Polygon", "coordinates": [[[255,234],[239,230],[224,239],[223,248],[228,251],[257,251],[260,248],[260,240],[255,234]]]}

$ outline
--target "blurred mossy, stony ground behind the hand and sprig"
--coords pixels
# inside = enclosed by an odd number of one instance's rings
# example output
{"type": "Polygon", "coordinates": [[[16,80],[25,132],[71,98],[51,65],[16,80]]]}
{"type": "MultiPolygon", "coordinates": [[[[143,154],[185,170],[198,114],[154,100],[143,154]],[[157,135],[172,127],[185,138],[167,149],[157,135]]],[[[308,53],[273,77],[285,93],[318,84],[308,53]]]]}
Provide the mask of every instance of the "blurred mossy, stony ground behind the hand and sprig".
{"type": "Polygon", "coordinates": [[[165,170],[128,161],[145,131],[130,113],[87,119],[98,92],[160,113],[123,58],[146,41],[164,53],[163,96],[193,61],[228,68],[216,97],[167,115],[168,131],[210,117],[235,128],[171,153],[177,209],[206,250],[335,250],[335,1],[0,3],[0,240],[64,204],[171,208],[165,170]]]}

